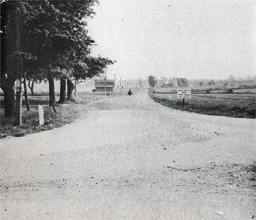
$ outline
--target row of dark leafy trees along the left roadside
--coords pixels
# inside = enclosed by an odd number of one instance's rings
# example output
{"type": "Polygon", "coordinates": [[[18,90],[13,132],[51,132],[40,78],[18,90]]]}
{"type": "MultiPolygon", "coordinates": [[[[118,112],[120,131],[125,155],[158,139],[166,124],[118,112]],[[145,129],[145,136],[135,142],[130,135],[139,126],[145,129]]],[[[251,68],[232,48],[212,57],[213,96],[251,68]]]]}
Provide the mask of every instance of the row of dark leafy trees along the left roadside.
{"type": "Polygon", "coordinates": [[[97,0],[7,1],[1,4],[1,89],[5,117],[14,114],[15,80],[22,76],[33,93],[34,82],[48,81],[55,103],[54,80],[60,81],[60,100],[72,97],[74,81],[103,73],[115,61],[90,55],[95,41],[86,18],[97,0]],[[66,90],[67,89],[67,90],[66,90]],[[67,91],[67,97],[66,97],[67,91]]]}

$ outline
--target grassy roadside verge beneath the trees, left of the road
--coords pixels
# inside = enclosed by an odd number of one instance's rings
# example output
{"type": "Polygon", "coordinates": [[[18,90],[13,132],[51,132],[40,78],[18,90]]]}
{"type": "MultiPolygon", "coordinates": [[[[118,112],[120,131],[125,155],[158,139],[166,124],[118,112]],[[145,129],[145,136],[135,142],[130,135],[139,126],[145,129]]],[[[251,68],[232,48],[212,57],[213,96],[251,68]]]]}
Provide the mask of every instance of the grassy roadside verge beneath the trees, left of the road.
{"type": "MultiPolygon", "coordinates": [[[[8,136],[22,137],[27,134],[38,133],[44,130],[50,130],[55,127],[61,127],[70,124],[77,118],[87,115],[88,107],[86,104],[105,98],[103,95],[84,94],[76,98],[76,100],[67,101],[64,104],[57,104],[55,113],[53,108],[48,106],[48,96],[29,97],[30,111],[26,109],[24,102],[22,112],[23,125],[14,126],[13,118],[4,118],[4,108],[1,107],[1,138],[8,136]],[[45,124],[39,126],[38,105],[43,105],[45,124]]],[[[56,97],[56,100],[58,98],[56,97]]]]}

